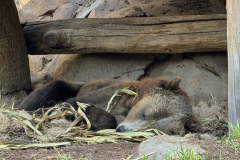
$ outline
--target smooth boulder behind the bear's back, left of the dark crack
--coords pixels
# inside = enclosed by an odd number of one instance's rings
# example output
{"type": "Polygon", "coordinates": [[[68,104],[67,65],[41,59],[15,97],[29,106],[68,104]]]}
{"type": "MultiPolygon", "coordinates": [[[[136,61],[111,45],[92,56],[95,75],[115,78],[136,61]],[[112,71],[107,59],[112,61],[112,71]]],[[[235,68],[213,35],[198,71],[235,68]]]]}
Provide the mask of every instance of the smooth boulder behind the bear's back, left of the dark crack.
{"type": "Polygon", "coordinates": [[[136,80],[145,74],[145,68],[153,59],[152,55],[147,54],[62,55],[48,68],[52,70],[54,79],[67,81],[87,82],[107,78],[136,80]]]}

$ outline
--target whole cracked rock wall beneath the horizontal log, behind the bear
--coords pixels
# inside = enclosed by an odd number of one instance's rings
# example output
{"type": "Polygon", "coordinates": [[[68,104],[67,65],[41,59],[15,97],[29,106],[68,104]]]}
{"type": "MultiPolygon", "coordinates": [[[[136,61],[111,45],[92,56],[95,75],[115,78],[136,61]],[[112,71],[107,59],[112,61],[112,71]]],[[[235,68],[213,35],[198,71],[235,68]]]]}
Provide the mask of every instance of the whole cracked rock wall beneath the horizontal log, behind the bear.
{"type": "Polygon", "coordinates": [[[53,79],[67,81],[181,77],[194,104],[212,97],[227,102],[227,53],[61,55],[47,68],[53,79]]]}

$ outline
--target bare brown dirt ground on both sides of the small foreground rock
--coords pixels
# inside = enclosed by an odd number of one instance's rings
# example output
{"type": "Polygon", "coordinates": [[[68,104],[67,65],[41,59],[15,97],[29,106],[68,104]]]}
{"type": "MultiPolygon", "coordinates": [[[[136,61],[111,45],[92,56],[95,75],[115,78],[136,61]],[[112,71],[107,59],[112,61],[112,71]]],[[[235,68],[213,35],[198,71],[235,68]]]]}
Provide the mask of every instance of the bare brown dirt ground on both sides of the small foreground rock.
{"type": "MultiPolygon", "coordinates": [[[[191,138],[191,143],[198,144],[207,151],[209,160],[212,159],[239,159],[240,155],[236,153],[229,145],[214,143],[214,141],[204,141],[191,138]]],[[[0,150],[0,159],[4,160],[26,160],[26,159],[60,159],[67,160],[120,160],[126,159],[131,155],[131,150],[139,143],[118,141],[117,143],[107,144],[81,144],[75,143],[71,146],[58,148],[36,148],[25,150],[0,150]],[[60,155],[60,156],[59,156],[60,155]]]]}

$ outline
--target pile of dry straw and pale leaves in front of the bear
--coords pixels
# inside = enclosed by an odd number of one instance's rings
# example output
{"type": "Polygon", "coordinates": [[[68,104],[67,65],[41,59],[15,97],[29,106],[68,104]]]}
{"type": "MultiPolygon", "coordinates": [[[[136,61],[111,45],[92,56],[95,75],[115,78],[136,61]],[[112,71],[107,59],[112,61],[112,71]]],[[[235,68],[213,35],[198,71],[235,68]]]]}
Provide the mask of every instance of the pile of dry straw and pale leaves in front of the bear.
{"type": "Polygon", "coordinates": [[[93,132],[86,115],[79,107],[75,111],[71,106],[62,112],[66,104],[50,108],[43,116],[30,115],[26,111],[0,108],[0,149],[22,149],[29,147],[53,147],[69,145],[80,141],[85,143],[108,143],[118,139],[143,141],[155,135],[158,130],[148,129],[140,132],[115,132],[115,129],[93,132]],[[76,116],[73,122],[64,115],[69,111],[76,116]],[[88,123],[83,123],[83,119],[88,123]]]}

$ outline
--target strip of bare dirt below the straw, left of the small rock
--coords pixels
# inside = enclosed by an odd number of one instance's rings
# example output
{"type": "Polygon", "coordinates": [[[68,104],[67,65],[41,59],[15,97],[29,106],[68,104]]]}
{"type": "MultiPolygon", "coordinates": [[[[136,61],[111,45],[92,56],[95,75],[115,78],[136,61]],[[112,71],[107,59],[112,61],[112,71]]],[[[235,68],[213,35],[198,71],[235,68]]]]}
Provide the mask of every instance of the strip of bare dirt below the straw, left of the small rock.
{"type": "Polygon", "coordinates": [[[37,148],[26,150],[0,151],[0,158],[6,160],[26,160],[26,159],[125,159],[131,155],[131,150],[138,143],[120,141],[107,144],[81,144],[75,143],[71,146],[59,148],[37,148]]]}

